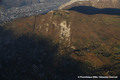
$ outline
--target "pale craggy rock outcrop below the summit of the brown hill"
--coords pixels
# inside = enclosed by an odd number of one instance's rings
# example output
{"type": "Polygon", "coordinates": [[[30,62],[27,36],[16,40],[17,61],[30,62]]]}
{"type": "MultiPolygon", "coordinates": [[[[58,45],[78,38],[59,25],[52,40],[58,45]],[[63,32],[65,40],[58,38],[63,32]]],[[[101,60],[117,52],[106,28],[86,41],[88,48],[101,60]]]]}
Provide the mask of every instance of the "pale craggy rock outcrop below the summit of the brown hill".
{"type": "MultiPolygon", "coordinates": [[[[47,17],[42,17],[40,22],[36,22],[35,32],[37,34],[41,33],[44,36],[49,34],[49,37],[55,39],[55,42],[65,43],[65,45],[70,45],[70,35],[71,35],[71,23],[64,19],[64,17],[69,15],[67,11],[50,11],[47,17]],[[59,19],[62,17],[62,19],[59,19]]],[[[37,19],[37,18],[36,18],[37,19]]],[[[38,19],[37,19],[38,20],[38,19]]]]}

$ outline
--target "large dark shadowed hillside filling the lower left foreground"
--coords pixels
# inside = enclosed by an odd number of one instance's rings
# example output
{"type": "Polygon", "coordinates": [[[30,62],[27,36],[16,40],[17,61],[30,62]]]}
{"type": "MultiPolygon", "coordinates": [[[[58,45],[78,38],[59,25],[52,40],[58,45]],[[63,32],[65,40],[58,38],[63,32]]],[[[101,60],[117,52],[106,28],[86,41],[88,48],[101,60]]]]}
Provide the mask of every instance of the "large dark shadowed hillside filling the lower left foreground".
{"type": "Polygon", "coordinates": [[[0,26],[0,80],[76,80],[78,75],[90,74],[86,70],[91,66],[59,56],[58,48],[48,38],[15,36],[0,26]]]}

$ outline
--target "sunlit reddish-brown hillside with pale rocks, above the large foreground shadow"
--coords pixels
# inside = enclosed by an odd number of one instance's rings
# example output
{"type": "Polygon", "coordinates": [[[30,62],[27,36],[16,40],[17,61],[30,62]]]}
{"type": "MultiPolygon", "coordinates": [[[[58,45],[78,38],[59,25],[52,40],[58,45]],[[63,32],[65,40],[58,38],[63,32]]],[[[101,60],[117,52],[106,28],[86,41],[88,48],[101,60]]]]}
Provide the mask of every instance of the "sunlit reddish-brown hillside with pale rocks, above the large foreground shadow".
{"type": "MultiPolygon", "coordinates": [[[[53,44],[59,44],[54,57],[55,63],[51,66],[55,67],[52,68],[53,70],[64,65],[59,61],[59,58],[62,57],[62,60],[69,58],[74,63],[82,65],[78,69],[82,69],[82,74],[120,74],[120,17],[118,15],[86,15],[75,11],[59,10],[45,15],[19,18],[2,24],[2,26],[6,31],[12,31],[15,38],[27,35],[38,36],[36,39],[39,39],[39,36],[42,36],[47,40],[52,40],[53,44]]],[[[7,45],[9,43],[11,41],[8,38],[7,45]]],[[[51,48],[47,47],[47,51],[53,51],[51,48]]],[[[26,50],[23,49],[24,51],[26,50]]],[[[46,55],[46,60],[48,60],[47,57],[46,55]]],[[[64,73],[64,75],[66,74],[68,73],[64,73]]],[[[72,76],[75,77],[75,75],[72,76]]]]}

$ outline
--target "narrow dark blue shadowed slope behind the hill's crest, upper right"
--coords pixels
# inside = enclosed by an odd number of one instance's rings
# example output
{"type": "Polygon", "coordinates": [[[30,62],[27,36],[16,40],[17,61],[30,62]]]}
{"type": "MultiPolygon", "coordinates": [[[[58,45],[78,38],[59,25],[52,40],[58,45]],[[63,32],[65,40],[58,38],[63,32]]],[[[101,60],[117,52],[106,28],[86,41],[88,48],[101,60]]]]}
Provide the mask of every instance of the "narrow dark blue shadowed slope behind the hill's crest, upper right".
{"type": "Polygon", "coordinates": [[[77,6],[77,7],[72,7],[69,10],[77,11],[88,15],[94,15],[94,14],[120,15],[120,9],[115,9],[115,8],[99,9],[91,6],[77,6]]]}

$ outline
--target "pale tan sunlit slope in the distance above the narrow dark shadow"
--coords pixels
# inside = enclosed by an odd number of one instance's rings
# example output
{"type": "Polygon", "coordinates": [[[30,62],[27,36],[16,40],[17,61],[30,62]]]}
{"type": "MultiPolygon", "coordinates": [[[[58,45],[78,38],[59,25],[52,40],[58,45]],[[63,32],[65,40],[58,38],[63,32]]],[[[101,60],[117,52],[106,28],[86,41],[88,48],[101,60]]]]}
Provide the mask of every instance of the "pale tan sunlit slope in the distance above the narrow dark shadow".
{"type": "Polygon", "coordinates": [[[59,9],[67,9],[73,6],[92,6],[96,8],[120,8],[119,0],[71,0],[59,9]]]}

